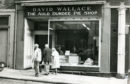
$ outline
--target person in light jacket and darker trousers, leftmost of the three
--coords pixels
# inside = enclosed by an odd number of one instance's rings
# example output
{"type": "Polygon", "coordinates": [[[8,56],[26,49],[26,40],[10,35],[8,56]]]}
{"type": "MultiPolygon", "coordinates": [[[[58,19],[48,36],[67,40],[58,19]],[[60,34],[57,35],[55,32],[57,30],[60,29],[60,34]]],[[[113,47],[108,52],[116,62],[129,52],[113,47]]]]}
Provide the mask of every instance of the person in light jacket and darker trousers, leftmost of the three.
{"type": "Polygon", "coordinates": [[[39,76],[39,63],[41,61],[41,49],[39,48],[38,44],[34,45],[34,56],[33,56],[33,62],[34,62],[34,70],[35,70],[35,77],[39,76]]]}

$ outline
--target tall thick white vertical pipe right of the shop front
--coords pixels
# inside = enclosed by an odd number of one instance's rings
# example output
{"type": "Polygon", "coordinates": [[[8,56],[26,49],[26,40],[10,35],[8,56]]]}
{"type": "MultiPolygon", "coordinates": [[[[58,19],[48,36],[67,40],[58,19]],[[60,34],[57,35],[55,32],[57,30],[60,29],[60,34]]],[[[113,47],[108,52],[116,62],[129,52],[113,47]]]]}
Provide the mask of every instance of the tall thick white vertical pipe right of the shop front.
{"type": "Polygon", "coordinates": [[[125,25],[126,25],[126,8],[121,3],[118,9],[118,61],[117,61],[117,77],[125,77],[125,25]]]}

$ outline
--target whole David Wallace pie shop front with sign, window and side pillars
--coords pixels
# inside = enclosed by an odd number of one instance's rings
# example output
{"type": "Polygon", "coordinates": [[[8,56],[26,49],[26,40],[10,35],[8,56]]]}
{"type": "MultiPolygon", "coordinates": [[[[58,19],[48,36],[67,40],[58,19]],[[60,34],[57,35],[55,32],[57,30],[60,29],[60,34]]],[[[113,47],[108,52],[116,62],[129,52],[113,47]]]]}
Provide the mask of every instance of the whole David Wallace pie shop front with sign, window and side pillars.
{"type": "Polygon", "coordinates": [[[23,48],[18,51],[23,51],[23,57],[17,56],[18,60],[22,59],[19,61],[22,67],[17,68],[31,67],[34,43],[38,43],[42,50],[48,43],[60,54],[60,70],[109,73],[110,10],[104,7],[103,2],[18,4],[20,38],[17,40],[23,43],[20,44],[23,48]]]}

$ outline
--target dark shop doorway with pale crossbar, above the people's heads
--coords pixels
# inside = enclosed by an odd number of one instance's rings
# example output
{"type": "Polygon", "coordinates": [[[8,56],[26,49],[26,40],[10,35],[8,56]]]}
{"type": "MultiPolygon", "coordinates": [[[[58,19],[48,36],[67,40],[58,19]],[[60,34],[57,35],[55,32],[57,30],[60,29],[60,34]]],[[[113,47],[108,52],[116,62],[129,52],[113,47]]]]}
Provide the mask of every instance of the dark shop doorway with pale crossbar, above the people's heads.
{"type": "Polygon", "coordinates": [[[43,50],[45,44],[49,43],[49,47],[52,48],[52,35],[49,35],[48,42],[48,22],[38,21],[34,23],[34,43],[39,44],[39,47],[43,50]]]}

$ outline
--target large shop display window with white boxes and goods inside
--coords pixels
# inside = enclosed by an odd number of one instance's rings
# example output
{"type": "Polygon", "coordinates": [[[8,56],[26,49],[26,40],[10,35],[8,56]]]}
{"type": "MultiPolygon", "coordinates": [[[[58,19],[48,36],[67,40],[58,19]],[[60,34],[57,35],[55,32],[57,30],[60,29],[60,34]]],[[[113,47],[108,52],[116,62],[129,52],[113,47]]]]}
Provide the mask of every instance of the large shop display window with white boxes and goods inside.
{"type": "Polygon", "coordinates": [[[52,47],[63,65],[98,65],[99,21],[51,21],[52,47]]]}

